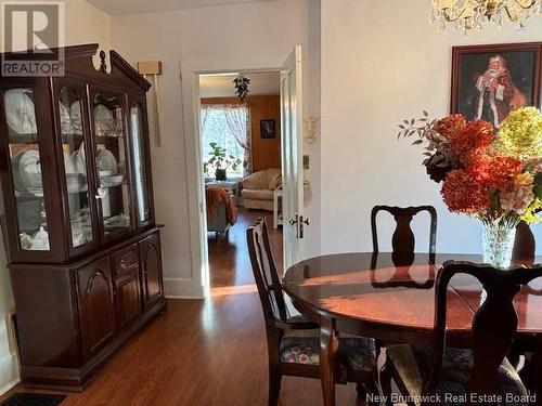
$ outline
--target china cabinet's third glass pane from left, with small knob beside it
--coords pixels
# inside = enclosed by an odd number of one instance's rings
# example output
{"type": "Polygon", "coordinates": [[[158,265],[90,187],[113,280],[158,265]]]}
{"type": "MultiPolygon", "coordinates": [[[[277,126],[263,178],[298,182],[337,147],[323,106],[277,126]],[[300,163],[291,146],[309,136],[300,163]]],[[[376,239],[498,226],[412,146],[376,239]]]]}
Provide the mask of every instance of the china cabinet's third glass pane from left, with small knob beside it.
{"type": "Polygon", "coordinates": [[[128,182],[128,146],[122,97],[96,94],[93,100],[94,156],[105,236],[132,228],[128,182]]]}

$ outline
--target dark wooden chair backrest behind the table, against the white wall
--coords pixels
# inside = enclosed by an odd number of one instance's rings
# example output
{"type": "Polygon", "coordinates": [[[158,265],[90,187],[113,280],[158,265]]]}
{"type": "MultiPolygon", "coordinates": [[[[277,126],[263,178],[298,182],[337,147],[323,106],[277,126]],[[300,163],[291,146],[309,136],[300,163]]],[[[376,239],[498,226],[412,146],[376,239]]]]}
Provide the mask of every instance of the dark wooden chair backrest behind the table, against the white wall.
{"type": "Polygon", "coordinates": [[[373,252],[378,252],[378,233],[376,231],[376,214],[387,211],[393,215],[397,226],[391,237],[393,257],[399,262],[409,263],[414,257],[415,237],[410,226],[414,215],[427,211],[430,217],[429,226],[429,254],[435,254],[437,244],[437,211],[433,206],[420,207],[390,207],[375,206],[371,211],[371,232],[373,235],[373,252]]]}

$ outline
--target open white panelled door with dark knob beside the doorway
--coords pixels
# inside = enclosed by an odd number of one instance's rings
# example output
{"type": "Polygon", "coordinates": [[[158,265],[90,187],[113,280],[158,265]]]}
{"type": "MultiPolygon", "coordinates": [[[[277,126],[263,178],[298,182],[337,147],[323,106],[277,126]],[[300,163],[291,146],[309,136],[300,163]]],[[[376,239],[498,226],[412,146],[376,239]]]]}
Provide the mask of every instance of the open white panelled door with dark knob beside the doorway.
{"type": "Polygon", "coordinates": [[[281,134],[283,184],[284,270],[304,259],[302,94],[301,47],[281,70],[281,134]]]}

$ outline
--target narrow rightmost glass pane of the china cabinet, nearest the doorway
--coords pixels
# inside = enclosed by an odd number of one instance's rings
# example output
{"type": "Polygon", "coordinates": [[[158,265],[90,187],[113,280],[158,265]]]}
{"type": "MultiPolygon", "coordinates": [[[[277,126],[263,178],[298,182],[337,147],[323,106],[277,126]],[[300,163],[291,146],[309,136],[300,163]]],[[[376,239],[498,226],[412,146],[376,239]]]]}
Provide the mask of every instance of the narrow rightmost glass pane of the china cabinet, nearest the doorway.
{"type": "Polygon", "coordinates": [[[143,130],[143,114],[141,106],[133,103],[130,107],[130,131],[133,150],[133,183],[136,185],[138,225],[151,219],[149,204],[147,173],[145,170],[145,140],[143,130]]]}

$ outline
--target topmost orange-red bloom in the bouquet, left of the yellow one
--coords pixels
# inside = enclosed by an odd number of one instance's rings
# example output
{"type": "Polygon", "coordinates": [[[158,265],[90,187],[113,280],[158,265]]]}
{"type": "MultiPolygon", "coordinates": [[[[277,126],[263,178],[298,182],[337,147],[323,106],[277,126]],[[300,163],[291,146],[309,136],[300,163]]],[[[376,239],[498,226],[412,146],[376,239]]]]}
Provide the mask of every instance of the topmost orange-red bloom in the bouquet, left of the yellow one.
{"type": "Polygon", "coordinates": [[[490,122],[470,121],[463,131],[456,132],[450,139],[450,147],[465,161],[470,155],[485,152],[491,145],[493,137],[493,126],[490,122]]]}

